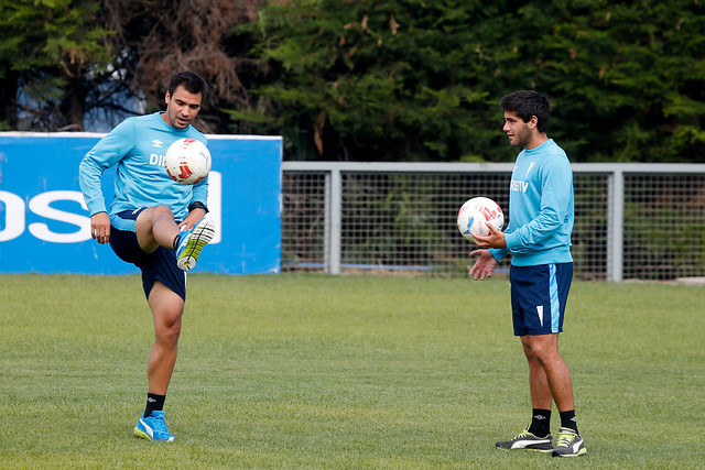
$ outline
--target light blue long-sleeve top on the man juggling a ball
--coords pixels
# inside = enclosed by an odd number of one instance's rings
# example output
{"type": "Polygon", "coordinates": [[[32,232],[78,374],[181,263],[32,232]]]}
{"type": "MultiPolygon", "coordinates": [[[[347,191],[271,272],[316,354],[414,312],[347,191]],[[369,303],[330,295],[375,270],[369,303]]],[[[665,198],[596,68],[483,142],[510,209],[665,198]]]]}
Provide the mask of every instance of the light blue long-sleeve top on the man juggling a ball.
{"type": "Polygon", "coordinates": [[[207,145],[206,136],[188,125],[176,129],[161,112],[128,118],[104,136],[84,157],[78,168],[80,189],[90,215],[106,211],[112,219],[122,210],[165,205],[176,220],[188,214],[188,206],[208,198],[208,178],[195,185],[180,185],[164,168],[164,154],[176,140],[196,139],[207,145]],[[106,170],[117,165],[115,198],[106,209],[101,182],[106,170]]]}

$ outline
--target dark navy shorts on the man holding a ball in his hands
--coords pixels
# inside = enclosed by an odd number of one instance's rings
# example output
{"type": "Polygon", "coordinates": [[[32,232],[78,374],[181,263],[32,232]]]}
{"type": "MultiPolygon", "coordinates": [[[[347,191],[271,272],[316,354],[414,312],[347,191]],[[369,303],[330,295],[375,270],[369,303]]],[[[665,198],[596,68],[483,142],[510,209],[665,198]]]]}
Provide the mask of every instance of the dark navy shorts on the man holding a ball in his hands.
{"type": "Polygon", "coordinates": [[[516,336],[563,331],[565,303],[573,281],[573,263],[512,265],[509,281],[516,336]]]}

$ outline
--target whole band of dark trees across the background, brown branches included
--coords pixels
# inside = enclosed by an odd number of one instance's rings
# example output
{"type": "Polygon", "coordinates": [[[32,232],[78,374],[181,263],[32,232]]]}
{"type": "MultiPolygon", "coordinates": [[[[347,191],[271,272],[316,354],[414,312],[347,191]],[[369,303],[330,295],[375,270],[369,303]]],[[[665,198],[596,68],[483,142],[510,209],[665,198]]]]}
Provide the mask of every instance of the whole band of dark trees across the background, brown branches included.
{"type": "Polygon", "coordinates": [[[498,102],[531,88],[574,162],[705,161],[699,0],[18,0],[0,29],[4,130],[155,110],[191,68],[202,130],[288,160],[511,161],[498,102]]]}

